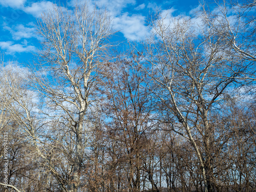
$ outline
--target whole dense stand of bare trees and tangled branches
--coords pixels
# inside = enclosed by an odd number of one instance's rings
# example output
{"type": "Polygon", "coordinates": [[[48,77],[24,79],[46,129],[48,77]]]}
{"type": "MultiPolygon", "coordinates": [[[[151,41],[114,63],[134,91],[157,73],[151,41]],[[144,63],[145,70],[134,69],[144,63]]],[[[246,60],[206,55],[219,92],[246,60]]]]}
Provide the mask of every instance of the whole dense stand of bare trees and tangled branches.
{"type": "Polygon", "coordinates": [[[2,61],[0,191],[256,191],[255,8],[160,12],[115,56],[106,12],[43,15],[33,70],[2,61]]]}

